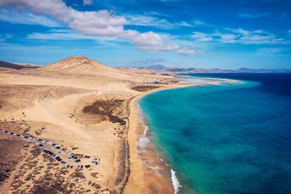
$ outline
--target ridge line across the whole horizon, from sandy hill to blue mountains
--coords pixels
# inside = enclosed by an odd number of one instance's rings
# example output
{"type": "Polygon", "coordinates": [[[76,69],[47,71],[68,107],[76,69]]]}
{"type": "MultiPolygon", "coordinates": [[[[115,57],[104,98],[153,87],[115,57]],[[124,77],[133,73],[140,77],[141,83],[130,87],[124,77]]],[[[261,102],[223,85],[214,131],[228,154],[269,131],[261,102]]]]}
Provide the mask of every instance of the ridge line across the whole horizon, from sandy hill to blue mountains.
{"type": "Polygon", "coordinates": [[[102,75],[104,72],[112,72],[112,75],[118,73],[135,73],[137,70],[142,70],[146,73],[278,73],[287,72],[291,73],[291,69],[250,69],[247,67],[241,67],[238,70],[221,70],[203,69],[198,67],[166,67],[164,65],[150,65],[149,67],[139,67],[130,69],[129,67],[114,68],[103,63],[87,58],[84,56],[71,56],[58,60],[50,65],[27,65],[26,63],[8,63],[0,60],[0,67],[11,68],[15,70],[36,70],[37,72],[58,72],[60,74],[79,74],[79,75],[102,75]],[[153,71],[151,71],[153,70],[153,71]]]}

